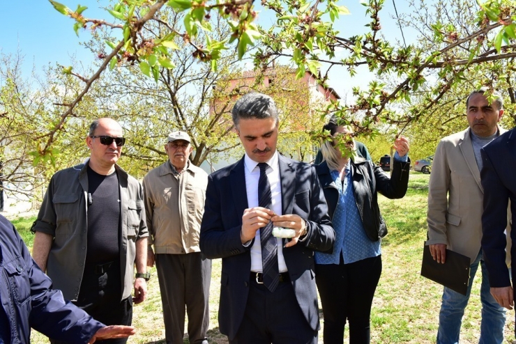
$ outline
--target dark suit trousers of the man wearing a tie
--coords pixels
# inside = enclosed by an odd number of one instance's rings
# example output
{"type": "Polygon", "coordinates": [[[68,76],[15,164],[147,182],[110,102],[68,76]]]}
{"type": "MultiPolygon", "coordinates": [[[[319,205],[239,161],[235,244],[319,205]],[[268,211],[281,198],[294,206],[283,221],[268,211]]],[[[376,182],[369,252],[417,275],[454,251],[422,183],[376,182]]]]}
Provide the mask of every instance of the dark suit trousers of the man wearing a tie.
{"type": "Polygon", "coordinates": [[[290,281],[280,282],[274,292],[255,279],[249,284],[243,320],[229,344],[317,343],[317,331],[306,321],[290,281]]]}

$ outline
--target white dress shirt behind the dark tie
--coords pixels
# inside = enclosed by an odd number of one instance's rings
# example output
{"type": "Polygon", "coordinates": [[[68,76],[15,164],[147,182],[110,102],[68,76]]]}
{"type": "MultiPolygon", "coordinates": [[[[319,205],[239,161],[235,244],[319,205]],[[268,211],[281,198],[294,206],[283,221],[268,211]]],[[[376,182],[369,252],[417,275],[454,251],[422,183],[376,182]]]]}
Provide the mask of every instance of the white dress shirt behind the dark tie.
{"type": "MultiPolygon", "coordinates": [[[[271,159],[266,162],[268,167],[266,174],[268,182],[271,185],[272,201],[273,201],[273,212],[278,215],[282,215],[282,204],[281,204],[281,182],[280,182],[280,164],[278,150],[274,153],[271,159]]],[[[247,154],[244,157],[245,165],[245,190],[248,194],[248,207],[254,208],[258,206],[258,180],[260,178],[260,168],[258,163],[253,161],[247,154]]],[[[255,237],[255,243],[251,247],[251,271],[252,272],[263,272],[261,266],[261,242],[260,242],[260,230],[257,231],[255,237]]],[[[283,257],[283,242],[280,237],[276,238],[278,245],[278,268],[280,272],[287,272],[287,265],[283,257]]]]}

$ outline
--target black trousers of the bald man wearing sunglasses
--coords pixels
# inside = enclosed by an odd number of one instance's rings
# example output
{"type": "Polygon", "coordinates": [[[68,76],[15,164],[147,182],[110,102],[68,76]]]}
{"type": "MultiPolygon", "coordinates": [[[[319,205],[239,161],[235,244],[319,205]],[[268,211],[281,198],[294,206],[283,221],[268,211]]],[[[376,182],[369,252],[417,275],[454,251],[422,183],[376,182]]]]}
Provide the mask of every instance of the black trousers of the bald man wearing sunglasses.
{"type": "MultiPolygon", "coordinates": [[[[131,325],[132,297],[120,301],[120,283],[120,267],[116,263],[102,274],[85,268],[79,297],[73,304],[105,325],[131,325]]],[[[95,343],[125,344],[127,341],[128,338],[116,338],[95,343]]]]}

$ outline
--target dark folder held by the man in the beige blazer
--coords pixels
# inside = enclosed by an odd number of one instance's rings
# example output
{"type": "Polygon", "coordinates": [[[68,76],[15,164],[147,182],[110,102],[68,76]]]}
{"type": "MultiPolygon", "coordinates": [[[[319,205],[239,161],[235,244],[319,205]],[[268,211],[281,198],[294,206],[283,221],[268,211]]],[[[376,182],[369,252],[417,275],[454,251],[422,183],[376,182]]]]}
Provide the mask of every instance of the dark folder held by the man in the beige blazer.
{"type": "Polygon", "coordinates": [[[437,263],[437,260],[434,260],[430,254],[430,247],[425,245],[421,276],[466,295],[471,260],[469,257],[447,249],[445,262],[444,264],[437,263]]]}

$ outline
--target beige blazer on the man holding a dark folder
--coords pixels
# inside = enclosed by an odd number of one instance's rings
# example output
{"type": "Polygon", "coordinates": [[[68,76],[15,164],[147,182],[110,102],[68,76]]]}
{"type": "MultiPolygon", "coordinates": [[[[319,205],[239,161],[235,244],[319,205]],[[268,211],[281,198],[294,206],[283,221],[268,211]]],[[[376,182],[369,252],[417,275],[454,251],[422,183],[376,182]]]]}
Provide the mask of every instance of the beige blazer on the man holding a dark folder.
{"type": "Polygon", "coordinates": [[[470,129],[441,139],[430,175],[426,244],[447,244],[475,260],[482,239],[483,194],[470,129]]]}

